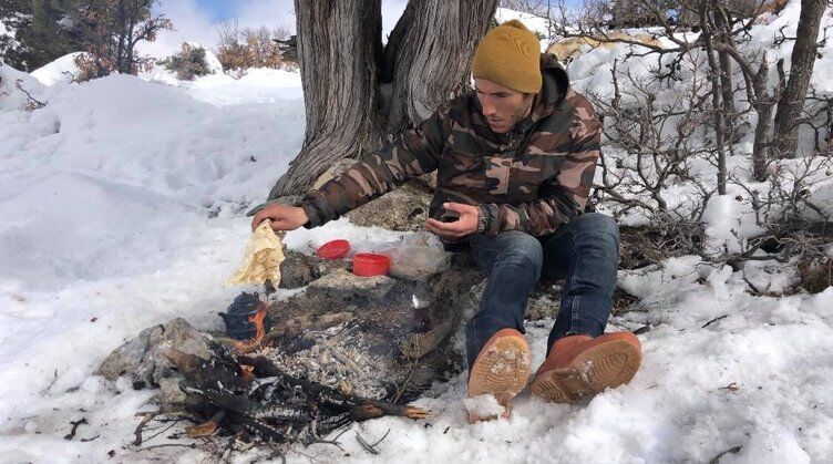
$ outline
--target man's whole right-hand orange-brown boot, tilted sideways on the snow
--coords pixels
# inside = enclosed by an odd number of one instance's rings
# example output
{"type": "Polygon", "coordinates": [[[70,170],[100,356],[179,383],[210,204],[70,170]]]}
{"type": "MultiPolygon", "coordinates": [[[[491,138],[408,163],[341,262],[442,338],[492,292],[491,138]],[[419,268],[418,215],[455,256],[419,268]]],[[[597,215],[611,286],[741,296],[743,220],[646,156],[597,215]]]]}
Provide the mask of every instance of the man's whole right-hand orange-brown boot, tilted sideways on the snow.
{"type": "Polygon", "coordinates": [[[565,337],[553,344],[529,391],[556,403],[573,403],[630,380],[642,360],[639,339],[630,332],[565,337]]]}

